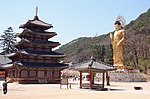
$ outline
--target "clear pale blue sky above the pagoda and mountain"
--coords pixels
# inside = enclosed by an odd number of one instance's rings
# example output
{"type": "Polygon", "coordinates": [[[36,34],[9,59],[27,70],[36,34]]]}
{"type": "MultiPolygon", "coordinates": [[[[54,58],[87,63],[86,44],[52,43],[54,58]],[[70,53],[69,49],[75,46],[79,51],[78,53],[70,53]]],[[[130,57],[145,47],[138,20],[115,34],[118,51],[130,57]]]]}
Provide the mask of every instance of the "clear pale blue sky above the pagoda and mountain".
{"type": "Polygon", "coordinates": [[[21,33],[19,26],[34,18],[37,5],[39,19],[57,33],[50,40],[63,45],[113,31],[118,15],[128,24],[150,8],[150,0],[1,0],[0,34],[10,26],[21,33]]]}

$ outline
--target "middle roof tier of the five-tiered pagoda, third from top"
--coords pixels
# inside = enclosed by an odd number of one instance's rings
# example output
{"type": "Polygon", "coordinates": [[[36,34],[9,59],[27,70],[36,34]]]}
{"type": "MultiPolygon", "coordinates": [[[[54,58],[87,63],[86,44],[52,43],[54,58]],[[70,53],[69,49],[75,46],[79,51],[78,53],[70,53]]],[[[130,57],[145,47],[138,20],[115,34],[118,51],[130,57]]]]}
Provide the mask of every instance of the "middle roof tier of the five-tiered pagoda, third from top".
{"type": "Polygon", "coordinates": [[[53,46],[57,47],[60,45],[59,42],[53,42],[53,41],[33,41],[33,40],[27,40],[27,39],[21,39],[19,43],[14,44],[14,46],[19,46],[22,44],[32,44],[32,45],[40,45],[40,46],[53,46]]]}

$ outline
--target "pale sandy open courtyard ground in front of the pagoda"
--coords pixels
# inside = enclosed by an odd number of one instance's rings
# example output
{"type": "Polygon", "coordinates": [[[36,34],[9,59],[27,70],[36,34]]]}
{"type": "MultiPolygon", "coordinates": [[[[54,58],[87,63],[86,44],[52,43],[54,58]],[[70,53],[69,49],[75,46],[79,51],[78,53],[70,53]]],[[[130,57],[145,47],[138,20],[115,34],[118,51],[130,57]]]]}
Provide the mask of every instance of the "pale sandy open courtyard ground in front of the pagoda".
{"type": "Polygon", "coordinates": [[[0,81],[0,99],[149,99],[150,82],[111,82],[105,86],[108,91],[80,89],[79,82],[71,82],[72,88],[65,85],[60,89],[59,84],[8,84],[8,93],[2,93],[0,81]],[[141,86],[143,90],[134,90],[141,86]]]}

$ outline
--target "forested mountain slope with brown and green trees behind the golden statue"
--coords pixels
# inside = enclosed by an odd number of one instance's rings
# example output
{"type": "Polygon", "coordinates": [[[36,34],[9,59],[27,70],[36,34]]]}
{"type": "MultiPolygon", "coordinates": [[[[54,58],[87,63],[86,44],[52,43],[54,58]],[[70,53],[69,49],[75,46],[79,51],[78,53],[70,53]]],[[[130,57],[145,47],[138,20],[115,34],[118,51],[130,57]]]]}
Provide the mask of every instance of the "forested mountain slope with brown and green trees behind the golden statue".
{"type": "MultiPolygon", "coordinates": [[[[150,67],[150,9],[126,26],[125,63],[137,69],[150,67]]],[[[66,62],[82,62],[94,56],[97,61],[112,64],[109,33],[97,37],[81,37],[63,46],[58,52],[66,54],[66,62]]]]}

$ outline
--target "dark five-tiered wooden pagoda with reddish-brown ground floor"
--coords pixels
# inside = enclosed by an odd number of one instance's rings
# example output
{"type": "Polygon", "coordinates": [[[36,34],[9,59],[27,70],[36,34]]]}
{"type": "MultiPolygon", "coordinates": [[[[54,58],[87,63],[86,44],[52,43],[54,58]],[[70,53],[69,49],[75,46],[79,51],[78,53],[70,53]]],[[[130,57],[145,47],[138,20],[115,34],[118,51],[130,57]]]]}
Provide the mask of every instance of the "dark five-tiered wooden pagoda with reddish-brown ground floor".
{"type": "Polygon", "coordinates": [[[64,54],[52,50],[60,45],[49,41],[57,35],[47,31],[52,24],[41,21],[36,13],[19,28],[23,29],[18,35],[21,41],[14,45],[18,51],[6,55],[12,60],[4,66],[6,78],[19,83],[60,83],[61,71],[68,65],[60,62],[64,54]]]}

